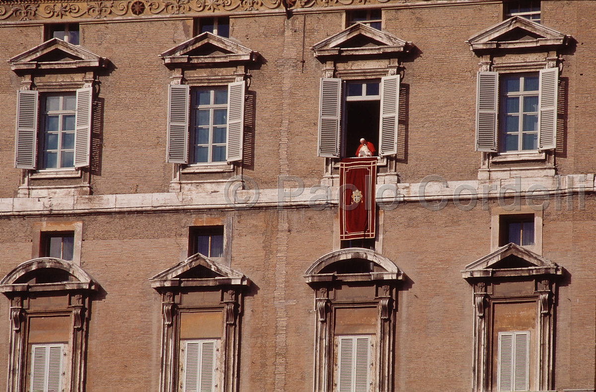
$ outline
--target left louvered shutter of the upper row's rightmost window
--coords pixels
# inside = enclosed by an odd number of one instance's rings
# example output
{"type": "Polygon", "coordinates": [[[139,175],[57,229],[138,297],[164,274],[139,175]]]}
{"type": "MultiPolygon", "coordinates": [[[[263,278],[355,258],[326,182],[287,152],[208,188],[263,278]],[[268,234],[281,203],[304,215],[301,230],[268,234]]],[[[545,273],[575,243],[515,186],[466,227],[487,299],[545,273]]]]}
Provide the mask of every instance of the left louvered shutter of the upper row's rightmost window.
{"type": "Polygon", "coordinates": [[[476,151],[496,151],[499,74],[479,72],[476,94],[476,151]]]}

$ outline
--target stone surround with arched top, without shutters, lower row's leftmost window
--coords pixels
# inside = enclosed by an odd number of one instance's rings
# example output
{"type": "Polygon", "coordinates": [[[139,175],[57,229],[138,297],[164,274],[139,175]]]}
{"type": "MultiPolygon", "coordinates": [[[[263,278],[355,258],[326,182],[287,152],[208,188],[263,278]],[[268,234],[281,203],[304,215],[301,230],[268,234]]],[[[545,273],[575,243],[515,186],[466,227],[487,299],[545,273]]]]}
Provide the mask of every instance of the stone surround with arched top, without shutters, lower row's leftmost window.
{"type": "MultiPolygon", "coordinates": [[[[27,347],[29,341],[29,320],[33,317],[69,316],[70,338],[67,345],[66,377],[63,380],[64,392],[83,392],[86,371],[87,335],[91,301],[99,285],[81,267],[66,260],[41,257],[21,263],[0,281],[0,293],[10,300],[10,351],[8,357],[8,392],[25,392],[27,372],[27,347]],[[60,269],[72,278],[69,281],[27,284],[18,283],[26,273],[43,273],[44,269],[60,269]],[[64,309],[33,310],[31,298],[38,294],[63,296],[66,293],[67,306],[64,309]]],[[[66,365],[64,365],[66,364],[66,365]]]]}

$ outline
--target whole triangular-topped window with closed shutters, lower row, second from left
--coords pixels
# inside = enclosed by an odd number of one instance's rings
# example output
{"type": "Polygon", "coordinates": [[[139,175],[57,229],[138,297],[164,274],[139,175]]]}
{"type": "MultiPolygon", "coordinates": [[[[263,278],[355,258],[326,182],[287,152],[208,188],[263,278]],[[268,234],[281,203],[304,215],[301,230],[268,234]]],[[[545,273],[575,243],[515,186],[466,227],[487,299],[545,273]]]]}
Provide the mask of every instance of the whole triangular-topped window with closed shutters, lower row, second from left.
{"type": "Polygon", "coordinates": [[[238,392],[250,280],[200,253],[151,278],[162,296],[161,392],[238,392]]]}

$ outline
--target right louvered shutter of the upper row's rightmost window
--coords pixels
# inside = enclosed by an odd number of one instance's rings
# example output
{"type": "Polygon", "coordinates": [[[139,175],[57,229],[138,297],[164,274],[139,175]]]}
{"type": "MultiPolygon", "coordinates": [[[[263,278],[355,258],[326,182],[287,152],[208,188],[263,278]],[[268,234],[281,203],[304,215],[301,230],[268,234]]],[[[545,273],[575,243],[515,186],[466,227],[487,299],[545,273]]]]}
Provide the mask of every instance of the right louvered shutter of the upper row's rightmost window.
{"type": "Polygon", "coordinates": [[[558,68],[540,71],[539,149],[557,148],[558,68]]]}

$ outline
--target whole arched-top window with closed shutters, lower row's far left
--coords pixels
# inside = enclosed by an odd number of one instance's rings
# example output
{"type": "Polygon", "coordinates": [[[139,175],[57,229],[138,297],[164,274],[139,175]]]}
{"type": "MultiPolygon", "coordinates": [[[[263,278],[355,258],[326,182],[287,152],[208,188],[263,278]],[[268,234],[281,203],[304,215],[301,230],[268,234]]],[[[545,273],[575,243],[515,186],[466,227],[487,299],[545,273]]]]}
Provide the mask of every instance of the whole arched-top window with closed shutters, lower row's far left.
{"type": "Polygon", "coordinates": [[[98,285],[79,266],[43,257],[0,281],[10,300],[8,391],[82,392],[91,298],[98,285]]]}

